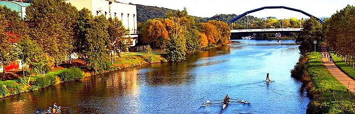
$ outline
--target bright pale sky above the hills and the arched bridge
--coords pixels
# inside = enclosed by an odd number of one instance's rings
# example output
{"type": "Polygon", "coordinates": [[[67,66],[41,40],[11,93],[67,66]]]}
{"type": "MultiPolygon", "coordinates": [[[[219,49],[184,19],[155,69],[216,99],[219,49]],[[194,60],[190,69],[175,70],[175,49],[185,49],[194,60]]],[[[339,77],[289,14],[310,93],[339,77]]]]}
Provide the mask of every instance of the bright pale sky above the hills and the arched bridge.
{"type": "MultiPolygon", "coordinates": [[[[346,5],[355,5],[355,0],[116,0],[122,3],[164,7],[174,10],[187,8],[189,15],[212,17],[216,14],[237,14],[265,6],[285,6],[299,9],[315,17],[331,17],[346,5]]],[[[286,9],[266,9],[249,15],[259,18],[309,18],[299,12],[286,9]]]]}

